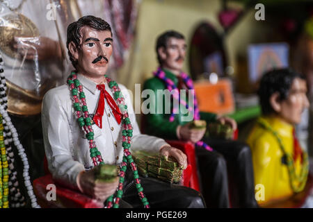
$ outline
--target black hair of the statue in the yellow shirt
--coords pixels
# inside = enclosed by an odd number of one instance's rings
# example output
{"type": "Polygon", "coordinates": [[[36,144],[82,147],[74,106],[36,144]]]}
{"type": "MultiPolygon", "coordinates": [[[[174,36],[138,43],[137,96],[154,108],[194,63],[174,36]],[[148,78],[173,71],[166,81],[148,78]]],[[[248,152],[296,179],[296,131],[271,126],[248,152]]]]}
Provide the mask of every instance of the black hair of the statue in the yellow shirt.
{"type": "Polygon", "coordinates": [[[291,85],[295,78],[305,79],[301,74],[290,68],[285,69],[273,69],[266,72],[262,76],[259,90],[257,92],[259,96],[259,103],[262,108],[262,114],[268,115],[275,113],[270,103],[271,96],[275,93],[279,93],[279,101],[284,101],[289,96],[291,85]]]}

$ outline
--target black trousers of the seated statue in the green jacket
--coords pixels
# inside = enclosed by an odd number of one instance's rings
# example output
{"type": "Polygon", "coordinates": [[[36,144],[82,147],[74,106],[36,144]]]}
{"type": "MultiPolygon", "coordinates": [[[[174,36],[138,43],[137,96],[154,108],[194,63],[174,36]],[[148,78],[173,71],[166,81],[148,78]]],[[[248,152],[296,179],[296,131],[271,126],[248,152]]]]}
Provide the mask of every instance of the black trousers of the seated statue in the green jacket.
{"type": "Polygon", "coordinates": [[[204,142],[214,149],[195,150],[207,207],[258,207],[250,147],[232,140],[204,138],[204,142]]]}

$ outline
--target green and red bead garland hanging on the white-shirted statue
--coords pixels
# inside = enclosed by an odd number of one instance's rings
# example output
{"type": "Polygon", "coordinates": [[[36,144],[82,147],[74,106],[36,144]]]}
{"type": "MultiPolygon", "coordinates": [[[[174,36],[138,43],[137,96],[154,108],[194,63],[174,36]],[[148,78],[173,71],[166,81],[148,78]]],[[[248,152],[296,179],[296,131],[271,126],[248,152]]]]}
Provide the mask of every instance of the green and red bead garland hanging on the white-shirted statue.
{"type": "MultiPolygon", "coordinates": [[[[127,112],[127,105],[125,104],[125,99],[122,96],[122,92],[120,87],[118,87],[118,83],[111,80],[108,76],[104,75],[106,78],[106,82],[108,83],[113,97],[118,104],[121,112],[122,112],[122,147],[124,148],[124,156],[122,159],[121,167],[120,167],[120,181],[118,184],[118,191],[113,203],[114,196],[110,196],[106,200],[106,207],[118,208],[120,199],[122,198],[122,188],[125,180],[125,172],[127,170],[127,162],[130,164],[131,169],[134,173],[134,180],[136,182],[136,188],[138,190],[138,195],[143,202],[143,206],[145,208],[150,208],[149,202],[143,194],[143,187],[141,186],[141,182],[139,180],[138,170],[134,160],[131,156],[129,148],[131,146],[131,137],[133,136],[133,127],[131,126],[131,122],[129,120],[129,114],[127,112]]],[[[94,166],[98,164],[104,164],[101,153],[98,151],[97,146],[94,141],[94,133],[93,127],[91,126],[91,119],[89,117],[89,112],[86,103],[86,96],[83,92],[83,86],[77,79],[77,71],[72,71],[70,76],[67,78],[67,85],[70,87],[70,92],[72,94],[72,101],[75,110],[75,117],[79,123],[79,126],[82,128],[83,132],[86,134],[86,138],[88,139],[89,148],[90,148],[90,157],[93,160],[94,166]]]]}

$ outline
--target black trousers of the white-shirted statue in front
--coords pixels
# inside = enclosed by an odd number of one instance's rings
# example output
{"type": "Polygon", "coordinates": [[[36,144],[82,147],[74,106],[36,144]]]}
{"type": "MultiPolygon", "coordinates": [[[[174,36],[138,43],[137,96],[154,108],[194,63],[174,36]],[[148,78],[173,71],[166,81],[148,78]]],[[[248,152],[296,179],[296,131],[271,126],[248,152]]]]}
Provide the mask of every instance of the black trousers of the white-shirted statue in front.
{"type": "MultiPolygon", "coordinates": [[[[189,187],[163,182],[155,178],[140,177],[143,192],[150,207],[153,208],[204,208],[206,207],[202,195],[189,187]]],[[[131,169],[127,169],[120,207],[143,207],[138,196],[136,183],[131,169]]]]}

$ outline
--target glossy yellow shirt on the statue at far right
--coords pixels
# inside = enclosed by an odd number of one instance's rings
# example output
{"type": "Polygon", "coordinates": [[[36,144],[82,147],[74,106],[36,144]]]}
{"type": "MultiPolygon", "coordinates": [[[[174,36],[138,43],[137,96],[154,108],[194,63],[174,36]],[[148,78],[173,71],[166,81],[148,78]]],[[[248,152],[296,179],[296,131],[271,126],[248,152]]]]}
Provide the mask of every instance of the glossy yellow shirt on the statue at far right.
{"type": "MultiPolygon", "coordinates": [[[[294,127],[275,117],[261,117],[261,119],[265,120],[278,133],[286,153],[294,156],[294,127]]],[[[289,182],[287,165],[282,163],[284,154],[273,133],[256,123],[247,143],[252,152],[255,185],[264,186],[264,200],[257,199],[259,205],[294,194],[289,182]]],[[[295,168],[296,173],[299,173],[301,168],[300,157],[295,162],[295,168]]]]}

